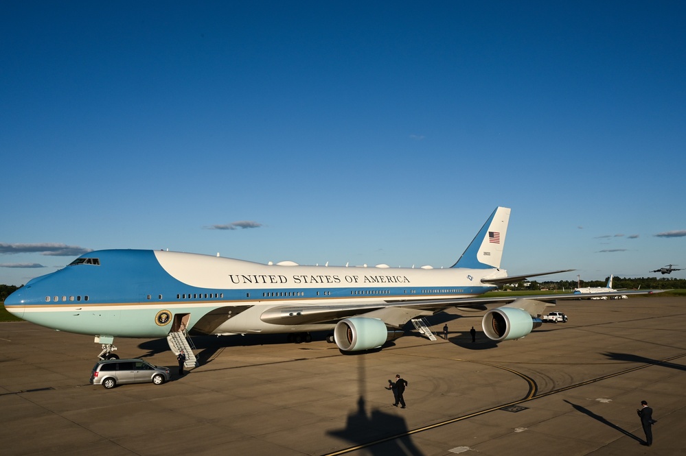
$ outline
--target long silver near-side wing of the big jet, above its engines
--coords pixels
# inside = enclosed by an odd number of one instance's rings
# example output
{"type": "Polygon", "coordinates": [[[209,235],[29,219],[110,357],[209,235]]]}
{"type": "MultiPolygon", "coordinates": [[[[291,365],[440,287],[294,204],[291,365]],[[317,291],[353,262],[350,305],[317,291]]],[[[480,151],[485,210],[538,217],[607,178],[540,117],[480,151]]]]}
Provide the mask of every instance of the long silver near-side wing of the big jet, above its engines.
{"type": "Polygon", "coordinates": [[[315,324],[335,323],[346,317],[364,315],[365,317],[377,317],[386,324],[400,327],[419,315],[433,315],[437,311],[448,307],[457,307],[464,310],[486,310],[488,304],[509,304],[516,300],[529,300],[549,302],[553,304],[557,300],[570,300],[590,298],[591,296],[624,296],[633,294],[659,293],[664,290],[634,290],[634,291],[609,291],[606,293],[564,293],[550,295],[527,295],[527,296],[502,296],[483,298],[450,298],[435,300],[413,300],[395,302],[374,302],[371,304],[345,304],[335,305],[284,305],[267,309],[260,316],[260,320],[271,324],[315,324]]]}

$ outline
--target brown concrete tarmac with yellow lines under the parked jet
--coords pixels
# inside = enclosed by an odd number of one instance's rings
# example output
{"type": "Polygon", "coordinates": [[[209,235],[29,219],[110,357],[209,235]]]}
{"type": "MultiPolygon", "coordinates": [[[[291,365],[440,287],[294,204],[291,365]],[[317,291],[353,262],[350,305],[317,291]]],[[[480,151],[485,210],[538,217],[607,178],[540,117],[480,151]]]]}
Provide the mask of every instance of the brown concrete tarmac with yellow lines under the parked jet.
{"type": "Polygon", "coordinates": [[[686,455],[686,298],[560,302],[569,322],[494,344],[482,313],[428,318],[376,352],[324,335],[194,338],[176,375],[166,341],[115,339],[120,357],[172,368],[164,385],[88,379],[93,337],[0,324],[3,455],[686,455]],[[461,316],[459,316],[461,315],[461,316]],[[448,324],[448,340],[442,327],[448,324]],[[469,329],[477,329],[472,343],[469,329]],[[409,382],[407,409],[385,387],[409,382]],[[643,446],[641,400],[658,420],[643,446]]]}

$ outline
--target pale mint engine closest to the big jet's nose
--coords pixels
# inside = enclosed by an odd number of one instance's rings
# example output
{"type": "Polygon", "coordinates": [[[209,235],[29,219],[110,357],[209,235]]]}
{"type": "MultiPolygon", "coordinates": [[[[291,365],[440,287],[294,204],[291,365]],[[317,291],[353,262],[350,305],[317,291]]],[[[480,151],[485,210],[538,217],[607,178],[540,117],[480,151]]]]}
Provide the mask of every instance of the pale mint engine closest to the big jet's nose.
{"type": "Polygon", "coordinates": [[[379,348],[388,338],[386,324],[378,318],[345,318],[334,328],[334,340],[344,352],[379,348]]]}

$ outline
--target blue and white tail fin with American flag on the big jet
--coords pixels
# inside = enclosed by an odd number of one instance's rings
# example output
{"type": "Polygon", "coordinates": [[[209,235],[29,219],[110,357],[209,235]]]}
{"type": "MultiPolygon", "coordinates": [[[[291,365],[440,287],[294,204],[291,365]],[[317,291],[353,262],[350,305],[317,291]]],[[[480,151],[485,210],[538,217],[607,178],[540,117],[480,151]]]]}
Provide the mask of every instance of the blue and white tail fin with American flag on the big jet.
{"type": "Polygon", "coordinates": [[[452,267],[471,269],[490,269],[500,267],[507,235],[507,224],[510,221],[510,208],[497,207],[483,224],[477,236],[467,250],[452,267]]]}

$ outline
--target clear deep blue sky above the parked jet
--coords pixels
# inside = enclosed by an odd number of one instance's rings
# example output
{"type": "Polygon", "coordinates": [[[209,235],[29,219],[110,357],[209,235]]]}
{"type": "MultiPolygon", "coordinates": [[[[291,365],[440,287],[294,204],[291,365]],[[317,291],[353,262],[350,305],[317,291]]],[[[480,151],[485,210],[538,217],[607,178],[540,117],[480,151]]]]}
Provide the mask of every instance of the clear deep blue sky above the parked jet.
{"type": "Polygon", "coordinates": [[[449,266],[496,206],[510,274],[686,267],[683,2],[4,2],[0,40],[0,283],[449,266]]]}

